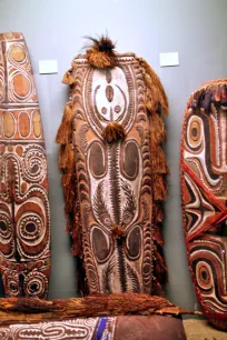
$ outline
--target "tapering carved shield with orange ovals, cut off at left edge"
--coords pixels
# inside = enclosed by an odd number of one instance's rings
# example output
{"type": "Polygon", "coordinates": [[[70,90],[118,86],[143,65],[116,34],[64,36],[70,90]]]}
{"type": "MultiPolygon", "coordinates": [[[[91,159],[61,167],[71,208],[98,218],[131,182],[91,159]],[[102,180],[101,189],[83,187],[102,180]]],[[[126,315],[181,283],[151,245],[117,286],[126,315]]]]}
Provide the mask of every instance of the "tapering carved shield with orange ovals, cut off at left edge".
{"type": "Polygon", "coordinates": [[[21,33],[0,34],[0,269],[6,296],[47,296],[47,158],[34,79],[21,33]]]}

